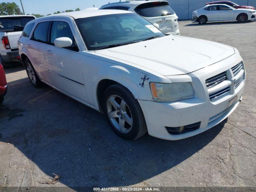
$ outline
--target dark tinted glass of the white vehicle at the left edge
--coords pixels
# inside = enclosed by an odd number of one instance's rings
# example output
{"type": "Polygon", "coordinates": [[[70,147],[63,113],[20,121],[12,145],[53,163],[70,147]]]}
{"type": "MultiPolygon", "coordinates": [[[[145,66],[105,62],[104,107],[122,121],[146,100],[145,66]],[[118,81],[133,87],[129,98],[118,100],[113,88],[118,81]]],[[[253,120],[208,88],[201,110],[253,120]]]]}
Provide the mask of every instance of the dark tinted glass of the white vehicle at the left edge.
{"type": "MultiPolygon", "coordinates": [[[[34,17],[10,17],[0,18],[0,31],[14,31],[14,26],[24,27],[34,17]]],[[[22,31],[22,29],[20,29],[22,31]]]]}

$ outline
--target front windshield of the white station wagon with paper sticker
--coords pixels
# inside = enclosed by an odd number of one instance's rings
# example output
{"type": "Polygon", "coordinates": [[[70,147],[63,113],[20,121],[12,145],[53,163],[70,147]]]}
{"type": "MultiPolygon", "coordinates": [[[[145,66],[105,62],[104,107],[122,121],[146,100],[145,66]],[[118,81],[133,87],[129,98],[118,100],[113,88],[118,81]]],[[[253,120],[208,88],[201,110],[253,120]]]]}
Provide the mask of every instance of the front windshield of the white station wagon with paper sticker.
{"type": "Polygon", "coordinates": [[[158,28],[134,13],[76,19],[88,50],[122,46],[165,36],[158,28]]]}

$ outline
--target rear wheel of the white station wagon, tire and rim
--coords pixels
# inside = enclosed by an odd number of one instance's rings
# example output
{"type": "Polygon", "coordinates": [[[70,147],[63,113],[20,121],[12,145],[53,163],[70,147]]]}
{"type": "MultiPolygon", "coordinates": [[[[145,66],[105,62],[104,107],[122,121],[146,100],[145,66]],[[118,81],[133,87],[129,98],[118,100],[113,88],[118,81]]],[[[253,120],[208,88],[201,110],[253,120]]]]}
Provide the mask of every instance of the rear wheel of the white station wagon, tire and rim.
{"type": "Polygon", "coordinates": [[[25,59],[24,66],[26,68],[30,82],[37,88],[41,87],[43,83],[39,79],[38,75],[36,74],[36,71],[34,70],[34,67],[32,66],[32,64],[28,58],[25,59]]]}

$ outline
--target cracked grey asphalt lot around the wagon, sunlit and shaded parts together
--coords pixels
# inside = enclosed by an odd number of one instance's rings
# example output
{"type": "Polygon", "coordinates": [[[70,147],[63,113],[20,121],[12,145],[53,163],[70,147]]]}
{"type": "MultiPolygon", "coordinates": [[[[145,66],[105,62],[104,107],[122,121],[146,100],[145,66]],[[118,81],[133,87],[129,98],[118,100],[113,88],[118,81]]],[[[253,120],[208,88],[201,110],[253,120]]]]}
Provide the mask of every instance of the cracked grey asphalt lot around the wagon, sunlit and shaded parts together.
{"type": "Polygon", "coordinates": [[[243,101],[227,120],[184,140],[128,142],[102,114],[34,88],[19,65],[6,70],[0,106],[0,186],[256,186],[256,22],[180,21],[180,32],[234,46],[244,58],[243,101]],[[52,173],[60,181],[42,184],[52,173]]]}

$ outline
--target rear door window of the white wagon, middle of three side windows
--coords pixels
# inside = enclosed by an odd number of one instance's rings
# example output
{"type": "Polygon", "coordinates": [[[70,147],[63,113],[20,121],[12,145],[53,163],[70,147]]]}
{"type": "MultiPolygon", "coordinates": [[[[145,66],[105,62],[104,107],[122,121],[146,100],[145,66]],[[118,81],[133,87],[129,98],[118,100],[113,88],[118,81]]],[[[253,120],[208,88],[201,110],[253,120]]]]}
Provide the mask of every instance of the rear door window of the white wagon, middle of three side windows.
{"type": "Polygon", "coordinates": [[[49,21],[39,23],[34,30],[33,40],[47,42],[49,24],[49,21]]]}

